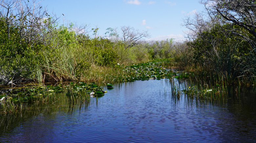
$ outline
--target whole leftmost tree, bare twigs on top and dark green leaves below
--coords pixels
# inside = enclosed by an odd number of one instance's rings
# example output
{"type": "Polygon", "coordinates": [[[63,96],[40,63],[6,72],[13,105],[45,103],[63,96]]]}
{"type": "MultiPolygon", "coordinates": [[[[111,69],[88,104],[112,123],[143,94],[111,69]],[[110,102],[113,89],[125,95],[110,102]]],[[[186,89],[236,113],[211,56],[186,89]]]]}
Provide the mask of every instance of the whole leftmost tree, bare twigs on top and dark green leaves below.
{"type": "Polygon", "coordinates": [[[0,83],[34,78],[43,52],[60,43],[56,20],[37,0],[0,0],[0,83]]]}

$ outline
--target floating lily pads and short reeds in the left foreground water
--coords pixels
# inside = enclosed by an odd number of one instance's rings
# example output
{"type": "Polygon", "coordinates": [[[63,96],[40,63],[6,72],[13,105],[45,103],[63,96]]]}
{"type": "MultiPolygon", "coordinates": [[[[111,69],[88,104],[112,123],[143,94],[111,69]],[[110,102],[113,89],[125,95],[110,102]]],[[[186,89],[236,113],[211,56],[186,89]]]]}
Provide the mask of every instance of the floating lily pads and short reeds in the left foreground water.
{"type": "Polygon", "coordinates": [[[11,93],[8,92],[8,94],[4,93],[0,95],[0,104],[2,107],[2,109],[0,109],[4,113],[14,113],[22,110],[23,103],[53,104],[60,100],[58,93],[66,93],[69,102],[81,103],[83,101],[90,101],[90,95],[91,97],[98,98],[104,96],[107,92],[103,91],[103,88],[99,87],[95,82],[91,84],[72,82],[65,87],[66,90],[62,85],[13,89],[11,93]]]}

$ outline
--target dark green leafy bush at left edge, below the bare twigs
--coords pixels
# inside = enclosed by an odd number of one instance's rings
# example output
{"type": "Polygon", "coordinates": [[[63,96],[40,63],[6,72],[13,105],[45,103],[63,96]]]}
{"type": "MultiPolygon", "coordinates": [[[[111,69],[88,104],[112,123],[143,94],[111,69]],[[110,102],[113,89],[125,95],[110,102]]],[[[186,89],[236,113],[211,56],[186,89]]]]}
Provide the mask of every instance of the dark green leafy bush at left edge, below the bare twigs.
{"type": "MultiPolygon", "coordinates": [[[[0,21],[1,27],[6,27],[0,21]]],[[[21,42],[18,29],[11,27],[10,39],[6,29],[0,30],[0,83],[14,84],[22,78],[34,78],[34,71],[42,61],[42,45],[21,42]]]]}

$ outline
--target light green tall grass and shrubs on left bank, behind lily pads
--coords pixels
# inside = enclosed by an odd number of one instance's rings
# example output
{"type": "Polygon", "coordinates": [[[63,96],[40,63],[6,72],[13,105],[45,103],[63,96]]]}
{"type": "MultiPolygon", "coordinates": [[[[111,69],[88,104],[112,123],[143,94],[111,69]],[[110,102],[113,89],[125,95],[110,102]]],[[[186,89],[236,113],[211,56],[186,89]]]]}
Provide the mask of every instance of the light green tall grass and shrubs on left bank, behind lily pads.
{"type": "Polygon", "coordinates": [[[92,40],[85,45],[76,43],[56,49],[53,53],[45,53],[46,62],[42,66],[43,81],[122,82],[125,74],[117,63],[122,65],[149,61],[147,49],[143,47],[125,49],[123,44],[118,42],[114,45],[116,47],[111,47],[106,40],[92,40]],[[92,45],[90,42],[93,41],[98,43],[92,45]],[[115,57],[115,52],[118,58],[115,57]]]}

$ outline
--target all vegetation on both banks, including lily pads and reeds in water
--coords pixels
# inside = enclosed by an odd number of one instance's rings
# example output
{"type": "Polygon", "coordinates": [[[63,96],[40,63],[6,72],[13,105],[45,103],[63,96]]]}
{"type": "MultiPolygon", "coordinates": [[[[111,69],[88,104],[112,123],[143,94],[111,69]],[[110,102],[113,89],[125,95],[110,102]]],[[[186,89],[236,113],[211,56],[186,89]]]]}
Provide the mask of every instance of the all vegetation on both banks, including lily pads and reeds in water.
{"type": "MultiPolygon", "coordinates": [[[[256,18],[243,18],[244,11],[239,13],[241,19],[236,19],[244,26],[230,21],[232,17],[226,17],[223,12],[229,9],[231,12],[226,12],[236,13],[235,3],[216,3],[212,9],[206,8],[208,15],[197,13],[193,20],[187,18],[184,26],[192,31],[188,34],[190,40],[177,42],[174,39],[147,41],[145,38],[150,37],[147,31],[130,26],[122,26],[119,33],[118,29],[108,28],[104,36],[98,36],[97,27],[87,31],[87,25],[59,25],[57,16],[41,10],[40,3],[32,7],[33,2],[13,0],[0,5],[2,87],[81,82],[73,86],[89,92],[90,86],[86,89],[79,86],[169,78],[171,82],[172,79],[188,81],[184,88],[173,82],[172,96],[214,100],[223,98],[228,86],[239,92],[240,87],[256,85],[256,24],[254,21],[247,24],[256,18]],[[32,8],[38,11],[31,13],[32,8]],[[219,12],[214,13],[213,9],[219,12]]],[[[242,2],[239,6],[243,5],[255,9],[256,3],[242,2]]],[[[6,101],[1,108],[4,112],[14,112],[18,106],[14,102],[20,103],[20,109],[21,102],[50,100],[54,103],[58,99],[52,95],[61,92],[61,88],[58,85],[26,88],[18,97],[1,94],[1,102],[6,101]]],[[[96,88],[100,87],[96,86],[95,92],[96,88]]],[[[102,91],[100,88],[99,92],[102,91]]]]}

